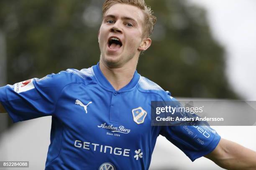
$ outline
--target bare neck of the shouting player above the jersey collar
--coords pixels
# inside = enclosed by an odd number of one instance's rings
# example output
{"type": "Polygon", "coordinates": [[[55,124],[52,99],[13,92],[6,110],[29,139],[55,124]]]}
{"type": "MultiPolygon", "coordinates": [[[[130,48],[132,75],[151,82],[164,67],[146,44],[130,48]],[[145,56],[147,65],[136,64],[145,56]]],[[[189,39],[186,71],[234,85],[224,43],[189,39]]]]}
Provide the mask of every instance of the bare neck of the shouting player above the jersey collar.
{"type": "Polygon", "coordinates": [[[100,70],[114,89],[118,91],[132,80],[137,62],[138,60],[136,63],[126,63],[122,67],[113,68],[100,60],[100,70]]]}

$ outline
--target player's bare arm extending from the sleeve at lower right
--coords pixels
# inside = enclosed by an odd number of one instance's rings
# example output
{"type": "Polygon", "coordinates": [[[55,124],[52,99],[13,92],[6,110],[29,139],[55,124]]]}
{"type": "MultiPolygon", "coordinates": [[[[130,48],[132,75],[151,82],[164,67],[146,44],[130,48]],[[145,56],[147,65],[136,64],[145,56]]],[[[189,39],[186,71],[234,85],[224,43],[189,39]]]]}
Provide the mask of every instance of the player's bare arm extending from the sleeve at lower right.
{"type": "Polygon", "coordinates": [[[256,152],[230,140],[221,139],[205,158],[228,170],[256,170],[256,152]]]}

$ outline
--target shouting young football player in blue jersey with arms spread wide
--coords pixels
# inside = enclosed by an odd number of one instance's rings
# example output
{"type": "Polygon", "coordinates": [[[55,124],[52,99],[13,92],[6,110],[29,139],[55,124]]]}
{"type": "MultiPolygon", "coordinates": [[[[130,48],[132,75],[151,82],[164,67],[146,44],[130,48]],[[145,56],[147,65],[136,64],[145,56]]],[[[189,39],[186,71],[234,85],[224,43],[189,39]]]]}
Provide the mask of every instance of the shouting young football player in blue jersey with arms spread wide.
{"type": "Polygon", "coordinates": [[[14,122],[52,116],[46,169],[146,170],[159,134],[192,161],[205,156],[226,169],[256,169],[255,152],[210,127],[200,127],[207,136],[190,127],[202,144],[182,126],[151,126],[151,101],[175,101],[136,72],[156,18],[144,0],[106,0],[102,12],[97,65],[0,87],[0,110],[14,122]]]}

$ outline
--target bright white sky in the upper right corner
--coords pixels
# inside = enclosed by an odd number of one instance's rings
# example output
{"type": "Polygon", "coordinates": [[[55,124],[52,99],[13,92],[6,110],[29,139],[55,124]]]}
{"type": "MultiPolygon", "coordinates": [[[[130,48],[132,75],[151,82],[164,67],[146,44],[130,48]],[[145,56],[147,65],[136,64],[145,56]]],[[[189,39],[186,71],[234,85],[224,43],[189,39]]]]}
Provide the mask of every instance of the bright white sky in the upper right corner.
{"type": "Polygon", "coordinates": [[[206,9],[213,36],[226,50],[226,75],[235,92],[256,100],[256,1],[188,0],[206,9]]]}

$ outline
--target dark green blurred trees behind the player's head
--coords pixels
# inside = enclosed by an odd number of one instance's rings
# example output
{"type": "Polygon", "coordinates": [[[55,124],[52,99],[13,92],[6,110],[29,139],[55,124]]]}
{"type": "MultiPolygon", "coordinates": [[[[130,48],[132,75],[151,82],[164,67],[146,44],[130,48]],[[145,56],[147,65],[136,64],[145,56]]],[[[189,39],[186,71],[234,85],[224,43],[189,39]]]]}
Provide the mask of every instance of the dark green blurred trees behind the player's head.
{"type": "MultiPolygon", "coordinates": [[[[173,96],[237,98],[225,77],[224,50],[205,11],[186,0],[146,0],[158,18],[138,72],[173,96]]],[[[1,0],[8,83],[95,65],[103,0],[1,0]]]]}

